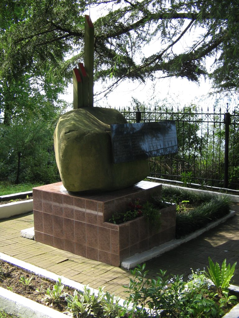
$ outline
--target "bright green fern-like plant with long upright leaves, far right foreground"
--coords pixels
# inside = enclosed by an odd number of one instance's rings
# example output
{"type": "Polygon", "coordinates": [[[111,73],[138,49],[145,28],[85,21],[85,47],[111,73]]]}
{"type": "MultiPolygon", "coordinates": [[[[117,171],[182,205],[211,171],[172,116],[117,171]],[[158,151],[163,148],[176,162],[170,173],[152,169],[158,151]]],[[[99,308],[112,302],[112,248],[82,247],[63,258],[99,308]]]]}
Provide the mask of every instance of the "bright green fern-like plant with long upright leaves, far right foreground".
{"type": "Polygon", "coordinates": [[[236,262],[231,267],[230,264],[227,266],[227,260],[224,259],[220,269],[219,264],[217,262],[214,264],[210,257],[208,257],[208,261],[209,267],[207,267],[207,269],[209,277],[217,288],[219,297],[222,297],[223,292],[225,292],[230,285],[230,281],[234,275],[236,262]]]}

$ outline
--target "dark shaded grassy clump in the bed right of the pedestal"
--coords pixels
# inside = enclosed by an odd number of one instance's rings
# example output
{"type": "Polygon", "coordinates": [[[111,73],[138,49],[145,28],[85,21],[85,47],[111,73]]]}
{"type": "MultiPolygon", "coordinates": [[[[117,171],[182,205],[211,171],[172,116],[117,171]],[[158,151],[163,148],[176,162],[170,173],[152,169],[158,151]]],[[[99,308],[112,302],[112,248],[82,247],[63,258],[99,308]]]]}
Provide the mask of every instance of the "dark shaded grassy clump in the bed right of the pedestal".
{"type": "Polygon", "coordinates": [[[177,204],[176,238],[199,230],[208,223],[222,218],[230,211],[231,200],[226,195],[193,192],[182,188],[165,187],[163,200],[177,204]],[[182,202],[188,202],[180,209],[182,202]],[[190,209],[187,208],[190,206],[190,209]]]}

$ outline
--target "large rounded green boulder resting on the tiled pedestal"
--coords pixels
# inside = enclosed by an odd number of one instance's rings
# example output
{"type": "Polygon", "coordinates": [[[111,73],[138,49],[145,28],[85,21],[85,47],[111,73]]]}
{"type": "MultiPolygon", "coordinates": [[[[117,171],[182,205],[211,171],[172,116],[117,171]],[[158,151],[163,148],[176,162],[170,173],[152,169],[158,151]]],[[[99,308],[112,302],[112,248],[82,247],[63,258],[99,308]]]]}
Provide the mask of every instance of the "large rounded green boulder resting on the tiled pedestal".
{"type": "Polygon", "coordinates": [[[68,191],[118,190],[148,176],[148,159],[113,163],[110,124],[124,123],[124,116],[111,108],[83,107],[60,116],[54,147],[68,191]]]}

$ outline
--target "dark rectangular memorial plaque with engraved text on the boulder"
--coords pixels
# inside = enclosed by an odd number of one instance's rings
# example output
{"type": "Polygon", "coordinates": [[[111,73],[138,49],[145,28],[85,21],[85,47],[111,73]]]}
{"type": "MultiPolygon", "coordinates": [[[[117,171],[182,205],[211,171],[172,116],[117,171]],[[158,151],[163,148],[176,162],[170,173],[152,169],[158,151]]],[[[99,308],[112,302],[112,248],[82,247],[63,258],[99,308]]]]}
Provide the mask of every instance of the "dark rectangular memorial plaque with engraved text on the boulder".
{"type": "Polygon", "coordinates": [[[175,121],[114,124],[110,127],[114,163],[177,153],[175,121]]]}

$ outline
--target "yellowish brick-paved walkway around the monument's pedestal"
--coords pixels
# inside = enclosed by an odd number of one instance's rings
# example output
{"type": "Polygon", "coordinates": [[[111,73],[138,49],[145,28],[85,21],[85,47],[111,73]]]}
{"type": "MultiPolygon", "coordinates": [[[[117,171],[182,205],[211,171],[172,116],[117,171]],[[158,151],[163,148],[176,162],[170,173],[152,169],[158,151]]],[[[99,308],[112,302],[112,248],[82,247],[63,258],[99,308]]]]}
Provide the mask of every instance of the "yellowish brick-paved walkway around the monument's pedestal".
{"type": "MultiPolygon", "coordinates": [[[[239,205],[234,204],[232,210],[236,216],[226,223],[148,261],[149,277],[155,277],[161,268],[167,269],[169,274],[183,274],[186,279],[191,268],[206,267],[210,256],[219,264],[224,258],[231,265],[237,261],[233,279],[234,284],[239,285],[239,205]]],[[[1,220],[0,252],[93,288],[105,286],[105,291],[125,298],[122,285],[128,284],[129,271],[22,238],[20,231],[30,227],[33,227],[33,213],[1,220]]]]}

